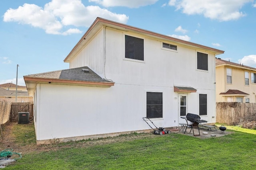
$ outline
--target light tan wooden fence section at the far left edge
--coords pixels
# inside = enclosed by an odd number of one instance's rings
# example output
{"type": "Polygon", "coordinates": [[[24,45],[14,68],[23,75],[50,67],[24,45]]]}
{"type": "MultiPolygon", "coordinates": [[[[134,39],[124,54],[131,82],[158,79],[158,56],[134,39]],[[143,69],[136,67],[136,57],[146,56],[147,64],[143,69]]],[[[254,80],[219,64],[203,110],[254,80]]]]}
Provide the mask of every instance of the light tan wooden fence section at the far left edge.
{"type": "Polygon", "coordinates": [[[11,106],[11,102],[0,102],[0,125],[9,121],[11,106]]]}

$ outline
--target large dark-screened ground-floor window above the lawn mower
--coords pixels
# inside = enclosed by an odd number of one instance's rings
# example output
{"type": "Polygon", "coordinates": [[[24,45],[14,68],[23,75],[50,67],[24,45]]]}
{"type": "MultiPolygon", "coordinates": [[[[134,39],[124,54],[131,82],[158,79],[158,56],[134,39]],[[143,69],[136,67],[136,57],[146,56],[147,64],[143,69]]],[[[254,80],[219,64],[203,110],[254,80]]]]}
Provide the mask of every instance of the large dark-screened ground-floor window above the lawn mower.
{"type": "Polygon", "coordinates": [[[163,117],[162,92],[147,92],[147,117],[163,117]]]}

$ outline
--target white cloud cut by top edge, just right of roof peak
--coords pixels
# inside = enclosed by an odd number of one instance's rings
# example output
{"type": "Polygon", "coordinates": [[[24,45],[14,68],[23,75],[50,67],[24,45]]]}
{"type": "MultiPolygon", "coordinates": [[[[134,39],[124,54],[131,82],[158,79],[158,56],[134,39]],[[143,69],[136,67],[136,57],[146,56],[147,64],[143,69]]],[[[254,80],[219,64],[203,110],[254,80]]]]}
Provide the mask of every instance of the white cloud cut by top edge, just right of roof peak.
{"type": "Polygon", "coordinates": [[[129,8],[139,8],[140,6],[147,6],[155,4],[158,0],[89,0],[89,2],[96,2],[105,7],[110,6],[125,6],[129,8]]]}

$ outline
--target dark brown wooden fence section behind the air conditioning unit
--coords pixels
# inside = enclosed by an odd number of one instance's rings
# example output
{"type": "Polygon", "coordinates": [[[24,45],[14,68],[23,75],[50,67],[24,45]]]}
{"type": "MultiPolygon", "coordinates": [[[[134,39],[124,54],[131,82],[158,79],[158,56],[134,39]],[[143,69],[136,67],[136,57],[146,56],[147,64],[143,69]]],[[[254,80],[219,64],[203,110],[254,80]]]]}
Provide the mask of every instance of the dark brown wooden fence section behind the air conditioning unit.
{"type": "Polygon", "coordinates": [[[29,112],[29,119],[33,118],[33,102],[14,102],[10,111],[10,121],[18,121],[19,112],[29,112]]]}

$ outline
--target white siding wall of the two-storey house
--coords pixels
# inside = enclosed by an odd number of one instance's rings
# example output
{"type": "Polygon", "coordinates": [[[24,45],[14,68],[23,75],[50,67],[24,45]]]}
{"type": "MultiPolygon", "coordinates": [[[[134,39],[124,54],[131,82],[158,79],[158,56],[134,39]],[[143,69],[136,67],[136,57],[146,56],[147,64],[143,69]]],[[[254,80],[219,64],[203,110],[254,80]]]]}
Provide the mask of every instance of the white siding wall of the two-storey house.
{"type": "Polygon", "coordinates": [[[163,92],[163,118],[154,123],[158,127],[178,126],[178,93],[174,92],[174,85],[197,89],[188,93],[190,113],[199,113],[199,94],[207,94],[208,115],[202,117],[214,123],[215,56],[208,53],[208,71],[200,71],[196,69],[196,49],[178,45],[178,51],[172,52],[161,49],[161,44],[157,39],[107,28],[104,68],[102,29],[70,62],[70,68],[89,66],[103,78],[106,70],[106,78],[115,85],[103,88],[41,84],[37,88],[37,140],[150,129],[142,120],[146,117],[147,91],[163,92]],[[124,58],[125,34],[144,39],[144,62],[124,58]]]}

